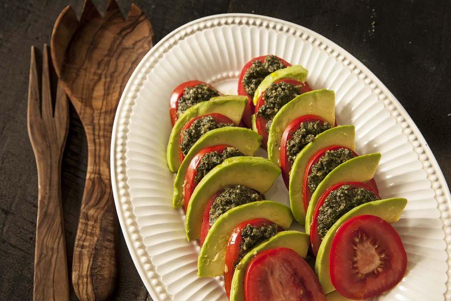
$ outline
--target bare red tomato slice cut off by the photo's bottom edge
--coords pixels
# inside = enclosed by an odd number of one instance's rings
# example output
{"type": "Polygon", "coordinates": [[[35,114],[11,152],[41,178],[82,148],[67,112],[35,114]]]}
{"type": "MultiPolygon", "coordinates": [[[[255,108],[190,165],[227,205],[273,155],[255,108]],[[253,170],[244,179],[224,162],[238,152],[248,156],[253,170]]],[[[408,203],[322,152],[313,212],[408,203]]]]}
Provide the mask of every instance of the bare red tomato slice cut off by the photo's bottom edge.
{"type": "Polygon", "coordinates": [[[246,301],[326,301],[312,268],[289,248],[258,253],[246,269],[244,285],[246,301]]]}

